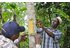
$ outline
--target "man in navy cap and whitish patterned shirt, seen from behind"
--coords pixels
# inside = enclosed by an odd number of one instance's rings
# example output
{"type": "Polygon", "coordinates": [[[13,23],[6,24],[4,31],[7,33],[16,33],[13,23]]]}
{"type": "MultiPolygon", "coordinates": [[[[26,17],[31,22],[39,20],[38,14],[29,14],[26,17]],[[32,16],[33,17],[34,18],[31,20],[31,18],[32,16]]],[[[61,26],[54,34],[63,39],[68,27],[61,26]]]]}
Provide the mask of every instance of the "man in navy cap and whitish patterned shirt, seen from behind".
{"type": "Polygon", "coordinates": [[[25,28],[14,21],[5,23],[0,35],[0,48],[17,48],[16,44],[25,39],[26,35],[19,36],[23,31],[25,28]]]}

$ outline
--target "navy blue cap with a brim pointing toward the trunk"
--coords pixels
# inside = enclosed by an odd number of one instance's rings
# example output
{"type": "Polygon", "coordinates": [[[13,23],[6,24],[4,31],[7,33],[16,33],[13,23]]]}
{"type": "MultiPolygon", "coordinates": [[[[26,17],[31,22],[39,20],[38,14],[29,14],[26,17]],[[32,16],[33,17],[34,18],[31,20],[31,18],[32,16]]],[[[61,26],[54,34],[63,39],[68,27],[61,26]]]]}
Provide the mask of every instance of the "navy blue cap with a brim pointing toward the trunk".
{"type": "Polygon", "coordinates": [[[11,37],[19,32],[25,31],[24,26],[19,26],[16,22],[7,22],[3,25],[2,34],[5,37],[11,37]]]}

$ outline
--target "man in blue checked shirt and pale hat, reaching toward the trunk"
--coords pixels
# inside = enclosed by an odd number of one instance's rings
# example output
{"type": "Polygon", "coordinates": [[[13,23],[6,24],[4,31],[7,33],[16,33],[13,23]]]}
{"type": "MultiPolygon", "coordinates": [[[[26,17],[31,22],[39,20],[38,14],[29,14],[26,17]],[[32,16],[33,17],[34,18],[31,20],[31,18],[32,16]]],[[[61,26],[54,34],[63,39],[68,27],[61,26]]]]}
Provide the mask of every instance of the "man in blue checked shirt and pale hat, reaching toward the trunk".
{"type": "Polygon", "coordinates": [[[61,32],[56,28],[59,24],[61,24],[61,22],[62,22],[61,18],[56,17],[52,21],[51,28],[45,28],[41,21],[37,22],[37,25],[39,25],[40,27],[40,29],[38,29],[37,32],[42,35],[43,48],[59,48],[59,39],[61,38],[61,32]]]}

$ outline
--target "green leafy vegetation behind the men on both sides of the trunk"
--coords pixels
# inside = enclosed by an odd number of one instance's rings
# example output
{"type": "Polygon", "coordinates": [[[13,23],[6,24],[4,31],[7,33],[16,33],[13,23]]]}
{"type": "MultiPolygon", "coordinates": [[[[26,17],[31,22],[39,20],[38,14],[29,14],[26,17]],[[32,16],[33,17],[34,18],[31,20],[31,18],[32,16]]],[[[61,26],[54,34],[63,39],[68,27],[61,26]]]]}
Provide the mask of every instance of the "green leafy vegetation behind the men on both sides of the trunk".
{"type": "MultiPolygon", "coordinates": [[[[65,43],[70,38],[67,26],[70,27],[70,3],[69,2],[35,2],[36,18],[40,19],[45,27],[51,26],[51,21],[56,16],[60,16],[63,20],[62,24],[58,26],[58,29],[62,32],[62,38],[60,40],[60,47],[65,47],[65,43]],[[67,30],[67,31],[65,31],[67,30]],[[68,35],[67,35],[68,34],[68,35]]],[[[24,17],[26,13],[26,3],[25,2],[2,2],[0,3],[0,30],[5,22],[16,21],[21,26],[25,26],[26,22],[24,17]]],[[[26,28],[27,29],[27,28],[26,28]]],[[[27,30],[25,31],[28,32],[27,30]]],[[[19,43],[19,47],[28,48],[28,37],[26,41],[19,43]]],[[[69,45],[70,46],[70,45],[69,45]]]]}

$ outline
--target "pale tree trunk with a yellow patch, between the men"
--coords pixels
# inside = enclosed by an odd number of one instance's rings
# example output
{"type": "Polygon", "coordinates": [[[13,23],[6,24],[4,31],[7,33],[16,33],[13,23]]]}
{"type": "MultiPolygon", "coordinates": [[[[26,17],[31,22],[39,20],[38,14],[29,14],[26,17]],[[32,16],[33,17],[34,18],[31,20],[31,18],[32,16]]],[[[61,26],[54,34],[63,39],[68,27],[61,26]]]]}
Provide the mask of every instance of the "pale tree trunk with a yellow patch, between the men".
{"type": "Polygon", "coordinates": [[[35,10],[34,3],[27,2],[27,16],[28,16],[28,33],[29,33],[29,47],[35,48],[35,33],[36,33],[36,23],[35,23],[35,10]]]}

